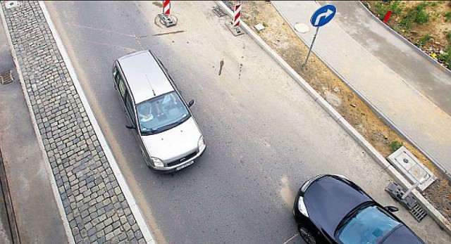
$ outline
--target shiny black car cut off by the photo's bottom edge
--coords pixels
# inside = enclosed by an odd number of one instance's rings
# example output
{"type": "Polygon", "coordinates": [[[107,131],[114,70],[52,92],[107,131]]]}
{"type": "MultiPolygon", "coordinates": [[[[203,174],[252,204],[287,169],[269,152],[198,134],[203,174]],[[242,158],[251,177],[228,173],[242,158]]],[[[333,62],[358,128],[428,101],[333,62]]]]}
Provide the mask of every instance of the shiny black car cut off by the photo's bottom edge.
{"type": "Polygon", "coordinates": [[[307,243],[424,243],[392,212],[345,176],[319,175],[299,189],[293,214],[307,243]]]}

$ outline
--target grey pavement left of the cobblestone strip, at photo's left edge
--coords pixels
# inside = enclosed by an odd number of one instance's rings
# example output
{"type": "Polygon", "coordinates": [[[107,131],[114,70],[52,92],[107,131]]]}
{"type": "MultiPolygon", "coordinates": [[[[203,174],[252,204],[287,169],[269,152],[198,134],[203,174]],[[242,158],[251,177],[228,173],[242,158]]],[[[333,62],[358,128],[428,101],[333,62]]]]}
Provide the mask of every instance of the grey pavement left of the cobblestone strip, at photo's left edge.
{"type": "Polygon", "coordinates": [[[0,84],[0,181],[5,200],[4,211],[0,211],[0,243],[67,243],[47,174],[49,165],[39,149],[6,32],[0,25],[0,72],[8,70],[13,72],[13,82],[0,84]]]}

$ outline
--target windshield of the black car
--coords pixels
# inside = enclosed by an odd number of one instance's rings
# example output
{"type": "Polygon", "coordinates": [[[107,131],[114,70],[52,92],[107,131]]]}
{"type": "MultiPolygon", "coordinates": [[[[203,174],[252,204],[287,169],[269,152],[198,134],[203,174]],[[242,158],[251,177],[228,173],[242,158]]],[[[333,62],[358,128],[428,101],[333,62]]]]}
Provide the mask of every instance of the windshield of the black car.
{"type": "Polygon", "coordinates": [[[338,239],[342,243],[379,243],[400,222],[385,213],[376,205],[357,210],[345,224],[338,229],[338,239]]]}

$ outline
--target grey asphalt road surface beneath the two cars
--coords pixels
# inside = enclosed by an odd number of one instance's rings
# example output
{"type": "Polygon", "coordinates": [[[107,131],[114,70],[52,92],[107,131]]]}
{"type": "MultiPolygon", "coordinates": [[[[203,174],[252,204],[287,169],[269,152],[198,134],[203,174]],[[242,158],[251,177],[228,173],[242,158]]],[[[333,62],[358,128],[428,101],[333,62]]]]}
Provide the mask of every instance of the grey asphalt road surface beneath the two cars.
{"type": "Polygon", "coordinates": [[[252,39],[233,37],[213,2],[173,2],[178,25],[168,29],[154,22],[160,1],[46,5],[158,243],[284,243],[297,233],[294,192],[322,173],[345,174],[395,205],[383,169],[252,39]],[[207,144],[175,174],[147,168],[113,89],[113,60],[142,49],[195,100],[207,144]]]}

